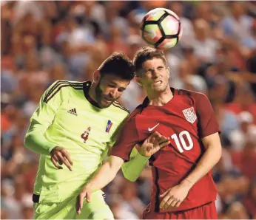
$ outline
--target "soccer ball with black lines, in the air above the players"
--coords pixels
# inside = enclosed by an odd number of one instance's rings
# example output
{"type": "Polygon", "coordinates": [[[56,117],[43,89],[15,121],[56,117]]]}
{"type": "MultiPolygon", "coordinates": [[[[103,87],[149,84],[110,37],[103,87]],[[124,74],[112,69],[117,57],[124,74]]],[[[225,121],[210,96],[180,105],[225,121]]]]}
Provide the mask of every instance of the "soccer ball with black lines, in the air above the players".
{"type": "Polygon", "coordinates": [[[150,47],[158,49],[175,47],[181,35],[180,18],[166,8],[149,11],[141,21],[141,37],[150,47]]]}

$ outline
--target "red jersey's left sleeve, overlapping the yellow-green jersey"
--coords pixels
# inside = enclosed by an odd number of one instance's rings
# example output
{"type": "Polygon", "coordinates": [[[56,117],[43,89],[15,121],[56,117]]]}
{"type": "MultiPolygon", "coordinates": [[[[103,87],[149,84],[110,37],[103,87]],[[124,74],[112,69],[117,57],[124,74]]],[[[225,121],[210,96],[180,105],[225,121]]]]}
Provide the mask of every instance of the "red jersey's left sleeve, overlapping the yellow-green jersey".
{"type": "Polygon", "coordinates": [[[129,154],[138,140],[138,131],[135,124],[135,118],[133,118],[132,120],[128,120],[124,123],[124,126],[122,126],[118,140],[115,142],[115,145],[113,145],[110,155],[121,157],[125,162],[129,161],[129,154]]]}

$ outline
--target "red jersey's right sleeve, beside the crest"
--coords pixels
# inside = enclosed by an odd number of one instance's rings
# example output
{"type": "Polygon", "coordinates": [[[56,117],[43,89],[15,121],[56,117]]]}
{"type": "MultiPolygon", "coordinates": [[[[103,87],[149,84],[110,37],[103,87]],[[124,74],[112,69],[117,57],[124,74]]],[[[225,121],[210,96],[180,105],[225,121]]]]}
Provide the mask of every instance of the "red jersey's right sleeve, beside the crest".
{"type": "Polygon", "coordinates": [[[197,94],[195,108],[198,114],[198,133],[203,138],[210,134],[220,132],[215,112],[205,94],[197,94]]]}

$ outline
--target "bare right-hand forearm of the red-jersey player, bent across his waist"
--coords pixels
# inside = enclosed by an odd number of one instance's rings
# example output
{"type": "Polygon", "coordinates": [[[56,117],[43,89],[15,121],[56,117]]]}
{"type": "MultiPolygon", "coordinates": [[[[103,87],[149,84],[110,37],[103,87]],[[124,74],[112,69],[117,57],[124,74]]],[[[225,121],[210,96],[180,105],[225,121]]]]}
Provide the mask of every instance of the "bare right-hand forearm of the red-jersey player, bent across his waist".
{"type": "Polygon", "coordinates": [[[220,142],[212,142],[206,148],[206,151],[201,157],[198,165],[186,179],[181,182],[182,185],[188,185],[192,188],[198,180],[200,180],[206,173],[212,170],[212,168],[218,163],[221,157],[221,145],[220,142]]]}

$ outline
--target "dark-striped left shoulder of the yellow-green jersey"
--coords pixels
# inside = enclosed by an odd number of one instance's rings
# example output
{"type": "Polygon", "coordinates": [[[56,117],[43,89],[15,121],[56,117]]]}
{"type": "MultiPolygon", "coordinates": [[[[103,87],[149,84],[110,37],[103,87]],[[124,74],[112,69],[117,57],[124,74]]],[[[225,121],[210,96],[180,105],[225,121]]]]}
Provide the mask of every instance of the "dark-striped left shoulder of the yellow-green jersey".
{"type": "Polygon", "coordinates": [[[70,80],[56,80],[52,83],[44,96],[44,102],[47,103],[56,94],[61,94],[62,92],[74,92],[78,90],[83,90],[84,82],[70,81],[70,80]]]}

